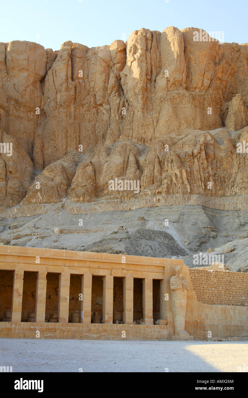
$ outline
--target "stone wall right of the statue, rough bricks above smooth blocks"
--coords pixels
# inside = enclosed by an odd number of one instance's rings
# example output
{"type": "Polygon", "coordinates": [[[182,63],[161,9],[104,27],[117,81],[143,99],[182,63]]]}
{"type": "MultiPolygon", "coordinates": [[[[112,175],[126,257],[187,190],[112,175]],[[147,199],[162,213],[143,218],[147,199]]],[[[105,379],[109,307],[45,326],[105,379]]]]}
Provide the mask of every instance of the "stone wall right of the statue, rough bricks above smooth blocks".
{"type": "Polygon", "coordinates": [[[196,271],[188,269],[185,272],[185,276],[189,280],[190,287],[187,293],[185,329],[191,336],[202,340],[210,336],[223,338],[248,336],[247,305],[206,304],[200,301],[211,299],[211,291],[207,286],[212,283],[217,290],[217,293],[213,295],[215,301],[225,302],[224,300],[227,300],[227,297],[230,300],[231,292],[234,289],[238,289],[240,293],[237,300],[241,302],[243,300],[242,297],[244,297],[241,296],[242,290],[244,290],[244,293],[246,292],[247,274],[213,271],[212,275],[212,272],[204,269],[196,271]],[[201,287],[201,277],[204,281],[205,289],[209,291],[204,292],[203,287],[201,287]],[[244,283],[244,285],[236,288],[236,280],[240,281],[241,285],[244,283]],[[230,282],[232,287],[229,285],[230,282]],[[220,299],[217,294],[220,295],[220,299]]]}

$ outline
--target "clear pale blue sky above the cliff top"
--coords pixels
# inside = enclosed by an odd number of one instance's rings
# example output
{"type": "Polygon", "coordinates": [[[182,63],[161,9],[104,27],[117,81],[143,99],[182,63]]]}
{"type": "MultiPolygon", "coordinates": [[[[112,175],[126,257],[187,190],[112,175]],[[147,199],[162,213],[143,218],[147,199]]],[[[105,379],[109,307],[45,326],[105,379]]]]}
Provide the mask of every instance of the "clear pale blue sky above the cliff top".
{"type": "Polygon", "coordinates": [[[162,32],[173,25],[224,32],[222,41],[241,44],[248,42],[247,18],[248,0],[0,0],[0,42],[96,47],[126,41],[142,27],[162,32]]]}

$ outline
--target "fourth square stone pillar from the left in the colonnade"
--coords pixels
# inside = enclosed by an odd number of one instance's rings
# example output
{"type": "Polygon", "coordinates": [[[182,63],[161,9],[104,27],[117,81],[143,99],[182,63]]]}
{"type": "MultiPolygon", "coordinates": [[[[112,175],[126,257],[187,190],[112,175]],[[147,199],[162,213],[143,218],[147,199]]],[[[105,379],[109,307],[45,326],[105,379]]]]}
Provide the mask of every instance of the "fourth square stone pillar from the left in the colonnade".
{"type": "Polygon", "coordinates": [[[82,275],[81,293],[83,299],[81,301],[81,319],[80,323],[91,323],[91,291],[92,291],[92,274],[82,275]]]}

